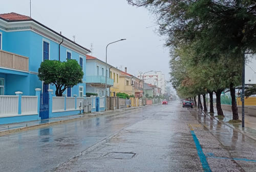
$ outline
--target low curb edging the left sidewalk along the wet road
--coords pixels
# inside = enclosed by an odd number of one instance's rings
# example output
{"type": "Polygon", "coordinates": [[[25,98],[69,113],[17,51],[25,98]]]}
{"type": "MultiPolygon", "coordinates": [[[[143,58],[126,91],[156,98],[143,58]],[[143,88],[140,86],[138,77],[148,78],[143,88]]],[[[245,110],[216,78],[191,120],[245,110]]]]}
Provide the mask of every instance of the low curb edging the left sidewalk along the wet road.
{"type": "Polygon", "coordinates": [[[11,130],[3,130],[3,131],[0,131],[0,136],[12,134],[12,133],[17,133],[17,132],[21,132],[21,131],[33,130],[35,128],[50,126],[50,125],[54,125],[54,124],[72,122],[72,121],[76,121],[76,120],[79,120],[79,119],[82,119],[82,118],[86,119],[86,118],[91,118],[91,117],[96,117],[96,116],[101,116],[101,115],[110,115],[110,114],[118,115],[118,114],[123,114],[123,113],[125,113],[125,111],[140,109],[140,108],[143,108],[143,107],[154,106],[154,105],[160,105],[160,103],[159,104],[145,105],[145,106],[136,106],[136,107],[132,107],[132,108],[129,108],[129,109],[123,109],[122,111],[119,111],[119,112],[111,111],[111,112],[102,113],[102,114],[91,113],[92,115],[85,114],[85,115],[83,115],[81,117],[78,117],[78,118],[59,120],[59,121],[53,121],[53,122],[46,122],[46,123],[35,124],[35,125],[30,125],[30,126],[23,126],[23,127],[19,127],[19,128],[13,128],[11,130]]]}

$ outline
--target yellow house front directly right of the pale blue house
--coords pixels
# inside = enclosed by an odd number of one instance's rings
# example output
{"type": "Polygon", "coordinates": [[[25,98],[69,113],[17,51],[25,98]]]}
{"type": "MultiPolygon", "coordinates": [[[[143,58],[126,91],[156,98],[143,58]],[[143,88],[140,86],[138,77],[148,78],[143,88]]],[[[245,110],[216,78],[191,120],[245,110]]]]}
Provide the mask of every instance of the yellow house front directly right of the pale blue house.
{"type": "Polygon", "coordinates": [[[117,93],[120,93],[120,72],[117,68],[110,68],[110,78],[114,80],[114,85],[110,88],[111,97],[115,97],[117,93]]]}

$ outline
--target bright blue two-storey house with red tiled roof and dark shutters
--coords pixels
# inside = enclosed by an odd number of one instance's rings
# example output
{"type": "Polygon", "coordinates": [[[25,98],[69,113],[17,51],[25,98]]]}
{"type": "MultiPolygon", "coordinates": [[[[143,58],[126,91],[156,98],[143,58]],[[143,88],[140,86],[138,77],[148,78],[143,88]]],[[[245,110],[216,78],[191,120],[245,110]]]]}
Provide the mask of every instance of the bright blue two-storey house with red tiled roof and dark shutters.
{"type": "Polygon", "coordinates": [[[82,67],[83,83],[68,88],[68,97],[86,94],[86,55],[90,50],[40,24],[31,17],[17,13],[0,14],[0,95],[34,96],[35,88],[43,93],[54,85],[46,85],[37,77],[40,63],[46,59],[76,59],[82,67]]]}

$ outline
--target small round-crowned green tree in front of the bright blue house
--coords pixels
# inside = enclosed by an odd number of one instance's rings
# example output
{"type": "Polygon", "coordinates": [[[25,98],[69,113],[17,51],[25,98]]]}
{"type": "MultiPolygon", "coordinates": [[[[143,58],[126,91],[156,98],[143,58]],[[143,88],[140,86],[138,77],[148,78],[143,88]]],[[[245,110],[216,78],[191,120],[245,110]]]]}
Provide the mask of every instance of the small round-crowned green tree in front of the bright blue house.
{"type": "Polygon", "coordinates": [[[38,69],[38,77],[46,84],[55,85],[56,96],[62,96],[62,93],[68,87],[74,87],[78,83],[82,83],[83,72],[74,59],[68,61],[45,60],[41,62],[38,69]]]}

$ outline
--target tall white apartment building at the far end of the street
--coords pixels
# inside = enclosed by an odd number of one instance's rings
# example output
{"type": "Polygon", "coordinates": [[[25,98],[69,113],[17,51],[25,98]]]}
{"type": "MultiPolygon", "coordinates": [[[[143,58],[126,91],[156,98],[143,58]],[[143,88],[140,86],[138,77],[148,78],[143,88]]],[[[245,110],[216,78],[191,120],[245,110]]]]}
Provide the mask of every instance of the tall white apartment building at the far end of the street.
{"type": "MultiPolygon", "coordinates": [[[[143,72],[139,72],[137,75],[139,79],[143,80],[143,72]]],[[[165,93],[165,77],[161,71],[153,71],[144,74],[144,82],[156,85],[161,89],[161,93],[165,93]]]]}

